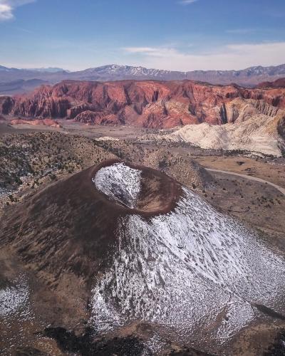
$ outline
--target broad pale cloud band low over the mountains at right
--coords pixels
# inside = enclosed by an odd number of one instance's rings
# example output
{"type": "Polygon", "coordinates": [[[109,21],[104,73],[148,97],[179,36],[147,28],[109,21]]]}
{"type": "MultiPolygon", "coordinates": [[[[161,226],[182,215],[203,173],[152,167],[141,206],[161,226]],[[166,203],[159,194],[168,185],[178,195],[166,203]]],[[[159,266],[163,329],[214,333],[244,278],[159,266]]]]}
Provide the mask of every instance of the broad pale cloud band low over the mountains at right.
{"type": "Polygon", "coordinates": [[[284,63],[285,42],[228,44],[209,53],[186,53],[166,47],[128,47],[124,50],[147,68],[232,70],[284,63]]]}

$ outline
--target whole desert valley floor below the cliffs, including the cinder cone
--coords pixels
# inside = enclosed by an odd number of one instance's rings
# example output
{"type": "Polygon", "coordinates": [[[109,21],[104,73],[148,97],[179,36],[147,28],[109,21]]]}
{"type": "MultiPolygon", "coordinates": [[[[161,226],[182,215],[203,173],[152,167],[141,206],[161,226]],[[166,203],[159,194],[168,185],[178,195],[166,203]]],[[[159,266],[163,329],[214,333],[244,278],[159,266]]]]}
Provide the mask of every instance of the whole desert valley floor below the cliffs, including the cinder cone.
{"type": "Polygon", "coordinates": [[[58,122],[0,123],[3,355],[284,355],[285,158],[58,122]]]}

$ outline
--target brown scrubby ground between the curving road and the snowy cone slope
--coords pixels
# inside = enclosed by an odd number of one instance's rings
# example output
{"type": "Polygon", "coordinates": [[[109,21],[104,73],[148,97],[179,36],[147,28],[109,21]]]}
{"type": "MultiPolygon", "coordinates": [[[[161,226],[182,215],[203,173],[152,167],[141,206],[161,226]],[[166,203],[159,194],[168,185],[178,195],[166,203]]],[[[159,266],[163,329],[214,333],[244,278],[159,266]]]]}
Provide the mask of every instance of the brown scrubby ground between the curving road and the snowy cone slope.
{"type": "MultiPolygon", "coordinates": [[[[285,251],[285,196],[269,184],[210,172],[217,182],[204,196],[217,209],[266,233],[271,245],[285,251]]],[[[263,236],[263,235],[262,235],[263,236]]]]}

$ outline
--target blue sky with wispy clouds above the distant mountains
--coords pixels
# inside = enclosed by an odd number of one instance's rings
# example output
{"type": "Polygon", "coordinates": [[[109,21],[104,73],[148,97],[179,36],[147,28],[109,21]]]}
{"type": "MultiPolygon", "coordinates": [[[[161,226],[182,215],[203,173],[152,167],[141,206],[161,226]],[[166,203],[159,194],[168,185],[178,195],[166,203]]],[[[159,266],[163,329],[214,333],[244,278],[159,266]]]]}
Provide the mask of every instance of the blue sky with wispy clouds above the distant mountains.
{"type": "Polygon", "coordinates": [[[170,70],[285,63],[284,0],[0,0],[0,65],[170,70]]]}

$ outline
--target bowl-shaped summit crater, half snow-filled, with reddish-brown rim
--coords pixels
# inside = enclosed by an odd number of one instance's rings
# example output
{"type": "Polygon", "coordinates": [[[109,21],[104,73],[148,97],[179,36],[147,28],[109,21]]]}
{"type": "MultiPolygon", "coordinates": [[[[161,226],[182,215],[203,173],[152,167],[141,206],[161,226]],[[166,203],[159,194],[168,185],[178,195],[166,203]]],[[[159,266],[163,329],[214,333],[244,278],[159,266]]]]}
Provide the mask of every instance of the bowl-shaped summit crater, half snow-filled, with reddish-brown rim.
{"type": "Polygon", "coordinates": [[[95,188],[128,214],[155,216],[174,209],[182,194],[180,184],[166,174],[118,160],[103,162],[95,169],[95,188]]]}

